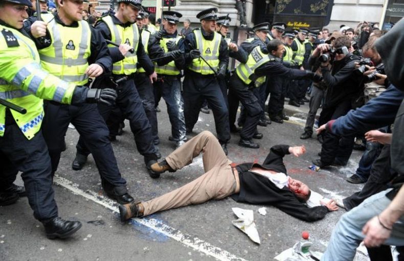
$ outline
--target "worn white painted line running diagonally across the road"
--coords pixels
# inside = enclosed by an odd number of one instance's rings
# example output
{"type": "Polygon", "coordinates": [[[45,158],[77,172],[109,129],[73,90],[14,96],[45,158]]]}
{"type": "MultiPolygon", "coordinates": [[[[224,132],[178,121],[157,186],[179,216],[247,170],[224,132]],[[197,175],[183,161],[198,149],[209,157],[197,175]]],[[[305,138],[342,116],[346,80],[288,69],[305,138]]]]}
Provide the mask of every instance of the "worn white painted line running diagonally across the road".
{"type": "MultiPolygon", "coordinates": [[[[99,196],[97,193],[93,191],[83,191],[78,187],[77,184],[74,184],[68,179],[65,179],[63,177],[60,177],[58,175],[55,175],[53,179],[54,183],[62,186],[66,189],[69,189],[73,194],[75,195],[80,195],[88,200],[94,201],[97,204],[100,204],[110,210],[113,210],[115,212],[119,212],[117,203],[113,200],[107,199],[103,196],[99,196]]],[[[134,218],[132,219],[144,226],[147,226],[151,229],[153,229],[156,232],[162,233],[165,236],[168,236],[169,238],[192,248],[195,251],[202,252],[206,255],[212,256],[218,260],[244,260],[241,257],[235,256],[231,253],[229,253],[226,250],[223,250],[221,248],[215,247],[208,242],[205,242],[203,240],[200,240],[198,238],[195,238],[191,235],[185,234],[173,227],[170,227],[166,224],[161,223],[158,220],[155,219],[149,219],[149,218],[144,218],[144,219],[138,219],[134,218]]]]}

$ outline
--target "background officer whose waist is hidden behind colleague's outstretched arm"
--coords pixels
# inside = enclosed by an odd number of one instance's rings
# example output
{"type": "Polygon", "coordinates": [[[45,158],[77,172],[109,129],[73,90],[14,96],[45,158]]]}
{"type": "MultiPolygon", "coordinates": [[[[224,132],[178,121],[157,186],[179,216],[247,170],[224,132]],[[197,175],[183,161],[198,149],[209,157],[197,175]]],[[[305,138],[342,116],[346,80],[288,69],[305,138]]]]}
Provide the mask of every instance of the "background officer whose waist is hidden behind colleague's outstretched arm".
{"type": "MultiPolygon", "coordinates": [[[[303,68],[303,60],[304,60],[304,53],[305,53],[305,46],[304,41],[306,39],[306,35],[308,30],[300,29],[298,36],[295,38],[293,43],[291,44],[291,49],[293,50],[293,59],[296,61],[300,69],[303,68]]],[[[303,86],[302,81],[292,81],[289,85],[289,105],[300,107],[300,105],[304,102],[300,100],[301,93],[306,90],[303,90],[305,86],[303,86]]]]}

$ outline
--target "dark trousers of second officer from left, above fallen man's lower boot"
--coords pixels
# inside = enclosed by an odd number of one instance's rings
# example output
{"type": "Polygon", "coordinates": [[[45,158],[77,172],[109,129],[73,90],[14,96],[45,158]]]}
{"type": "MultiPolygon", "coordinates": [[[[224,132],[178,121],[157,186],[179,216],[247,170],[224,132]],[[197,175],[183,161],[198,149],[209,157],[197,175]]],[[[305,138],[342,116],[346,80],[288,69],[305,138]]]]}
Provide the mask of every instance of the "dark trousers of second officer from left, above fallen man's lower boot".
{"type": "Polygon", "coordinates": [[[112,186],[126,187],[126,180],[121,177],[114,150],[108,139],[108,128],[96,104],[84,103],[74,106],[46,102],[42,132],[51,156],[52,174],[57,170],[60,154],[65,149],[64,136],[69,123],[76,127],[80,139],[85,141],[85,145],[93,154],[101,180],[112,186]]]}

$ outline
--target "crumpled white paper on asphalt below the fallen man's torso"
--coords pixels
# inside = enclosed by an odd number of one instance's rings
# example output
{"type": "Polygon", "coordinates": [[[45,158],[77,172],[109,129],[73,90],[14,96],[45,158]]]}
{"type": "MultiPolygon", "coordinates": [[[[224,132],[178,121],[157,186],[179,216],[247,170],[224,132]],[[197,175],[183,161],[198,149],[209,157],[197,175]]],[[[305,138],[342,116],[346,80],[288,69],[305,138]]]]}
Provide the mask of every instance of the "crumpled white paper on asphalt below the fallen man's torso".
{"type": "Polygon", "coordinates": [[[232,210],[238,218],[237,220],[232,221],[233,225],[246,233],[252,241],[257,244],[261,244],[258,230],[254,222],[254,211],[251,209],[242,209],[238,207],[233,207],[232,210]]]}

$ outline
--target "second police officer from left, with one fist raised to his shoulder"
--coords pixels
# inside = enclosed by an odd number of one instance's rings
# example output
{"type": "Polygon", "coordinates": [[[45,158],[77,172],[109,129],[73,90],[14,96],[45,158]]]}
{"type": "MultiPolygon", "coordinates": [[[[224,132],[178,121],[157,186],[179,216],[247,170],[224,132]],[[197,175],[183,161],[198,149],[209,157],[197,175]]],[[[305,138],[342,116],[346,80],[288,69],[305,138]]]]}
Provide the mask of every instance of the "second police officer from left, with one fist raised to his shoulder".
{"type": "MultiPolygon", "coordinates": [[[[98,31],[82,20],[83,3],[59,0],[56,6],[55,16],[43,15],[44,21],[37,20],[31,25],[31,34],[39,37],[36,45],[42,68],[77,85],[87,84],[88,77],[109,73],[112,61],[106,43],[98,31]],[[41,37],[45,37],[44,41],[41,37]]],[[[65,149],[64,136],[70,122],[94,156],[106,195],[118,202],[133,201],[119,172],[108,129],[95,104],[74,106],[53,101],[46,104],[42,130],[51,156],[52,173],[56,172],[65,149]]]]}

